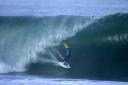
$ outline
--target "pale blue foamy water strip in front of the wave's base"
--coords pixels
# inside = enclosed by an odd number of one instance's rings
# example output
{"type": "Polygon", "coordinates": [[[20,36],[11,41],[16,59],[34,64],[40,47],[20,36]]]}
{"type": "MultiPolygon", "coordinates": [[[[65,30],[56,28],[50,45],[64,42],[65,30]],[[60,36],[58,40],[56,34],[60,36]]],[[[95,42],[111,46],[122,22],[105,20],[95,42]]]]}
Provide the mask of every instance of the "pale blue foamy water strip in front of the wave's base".
{"type": "Polygon", "coordinates": [[[40,78],[37,76],[0,76],[1,85],[128,85],[127,82],[69,78],[40,78]]]}

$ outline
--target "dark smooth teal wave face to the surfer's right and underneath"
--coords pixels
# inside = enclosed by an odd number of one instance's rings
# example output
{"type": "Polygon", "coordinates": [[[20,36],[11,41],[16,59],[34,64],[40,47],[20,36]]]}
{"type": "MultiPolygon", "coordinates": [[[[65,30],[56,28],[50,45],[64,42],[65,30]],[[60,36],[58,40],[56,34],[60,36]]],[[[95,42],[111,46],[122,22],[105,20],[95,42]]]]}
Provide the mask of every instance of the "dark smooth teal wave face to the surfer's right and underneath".
{"type": "MultiPolygon", "coordinates": [[[[70,70],[37,63],[30,66],[29,73],[119,80],[127,78],[127,23],[128,14],[121,13],[108,15],[94,21],[69,39],[70,70]]],[[[56,48],[62,55],[65,55],[63,46],[60,45],[56,48]]]]}

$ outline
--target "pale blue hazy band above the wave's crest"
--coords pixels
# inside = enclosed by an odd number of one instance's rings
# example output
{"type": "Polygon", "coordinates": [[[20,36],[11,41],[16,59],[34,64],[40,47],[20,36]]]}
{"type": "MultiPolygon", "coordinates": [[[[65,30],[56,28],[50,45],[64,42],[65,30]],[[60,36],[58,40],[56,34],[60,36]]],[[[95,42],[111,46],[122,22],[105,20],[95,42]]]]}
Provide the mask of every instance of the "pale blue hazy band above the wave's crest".
{"type": "Polygon", "coordinates": [[[0,16],[128,13],[128,0],[0,0],[0,16]]]}

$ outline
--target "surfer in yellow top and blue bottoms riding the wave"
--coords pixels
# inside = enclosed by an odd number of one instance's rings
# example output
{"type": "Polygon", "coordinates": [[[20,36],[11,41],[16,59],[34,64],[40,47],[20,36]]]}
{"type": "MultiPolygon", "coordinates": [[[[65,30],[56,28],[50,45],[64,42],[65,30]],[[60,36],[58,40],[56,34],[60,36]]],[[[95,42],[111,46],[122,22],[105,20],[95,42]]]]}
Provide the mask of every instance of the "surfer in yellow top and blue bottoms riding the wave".
{"type": "Polygon", "coordinates": [[[64,61],[63,62],[69,62],[69,58],[70,58],[70,47],[68,45],[68,41],[67,40],[63,40],[63,46],[65,48],[65,51],[66,51],[66,56],[64,58],[64,61]]]}

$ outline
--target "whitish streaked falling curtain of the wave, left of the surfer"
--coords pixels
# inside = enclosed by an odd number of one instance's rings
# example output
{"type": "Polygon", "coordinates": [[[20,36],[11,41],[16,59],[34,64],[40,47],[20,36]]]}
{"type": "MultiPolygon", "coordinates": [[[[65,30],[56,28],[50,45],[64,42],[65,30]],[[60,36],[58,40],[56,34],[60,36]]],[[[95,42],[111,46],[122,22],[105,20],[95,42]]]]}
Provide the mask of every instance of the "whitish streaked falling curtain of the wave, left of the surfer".
{"type": "Polygon", "coordinates": [[[58,46],[63,39],[74,36],[92,21],[92,17],[79,16],[1,16],[0,73],[25,71],[28,64],[39,61],[57,62],[48,48],[58,46]]]}

